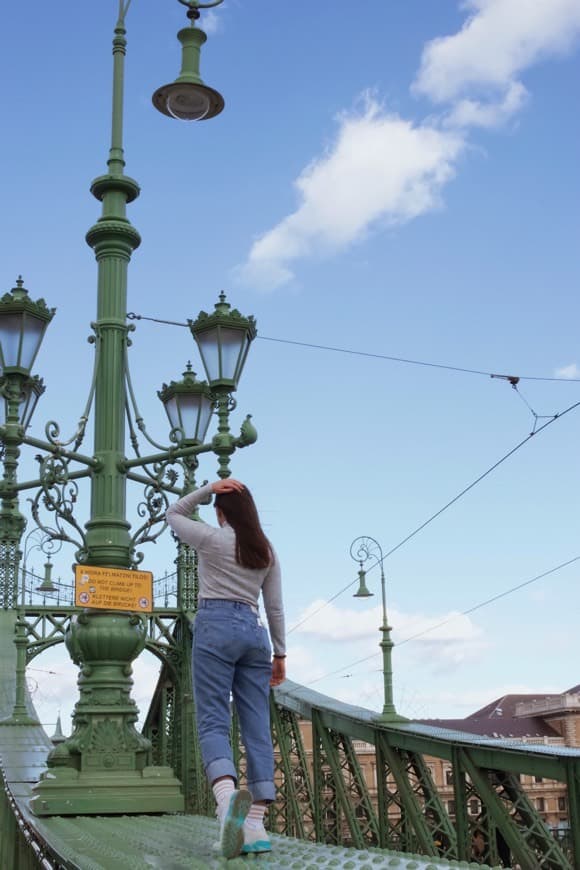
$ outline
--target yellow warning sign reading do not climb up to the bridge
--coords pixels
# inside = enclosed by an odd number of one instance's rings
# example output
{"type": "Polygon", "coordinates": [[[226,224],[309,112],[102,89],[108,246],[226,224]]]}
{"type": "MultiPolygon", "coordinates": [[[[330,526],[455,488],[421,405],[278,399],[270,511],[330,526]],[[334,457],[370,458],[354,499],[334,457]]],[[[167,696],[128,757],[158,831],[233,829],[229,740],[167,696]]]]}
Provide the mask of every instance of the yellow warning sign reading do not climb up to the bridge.
{"type": "Polygon", "coordinates": [[[75,604],[97,610],[153,610],[153,574],[75,565],[75,604]]]}

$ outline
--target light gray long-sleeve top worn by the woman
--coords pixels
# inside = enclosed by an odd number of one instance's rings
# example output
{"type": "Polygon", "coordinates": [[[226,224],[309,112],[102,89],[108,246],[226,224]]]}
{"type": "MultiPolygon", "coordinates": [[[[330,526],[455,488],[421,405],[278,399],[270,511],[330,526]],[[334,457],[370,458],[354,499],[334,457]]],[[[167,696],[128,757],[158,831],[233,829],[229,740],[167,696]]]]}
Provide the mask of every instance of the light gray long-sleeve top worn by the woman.
{"type": "Polygon", "coordinates": [[[225,598],[258,606],[260,590],[268,620],[274,655],[284,655],[286,640],[280,562],[272,550],[267,568],[245,568],[236,562],[236,533],[229,525],[216,528],[192,520],[194,509],[211,496],[211,483],[172,504],[167,522],[184,544],[197,551],[199,559],[199,597],[225,598]]]}

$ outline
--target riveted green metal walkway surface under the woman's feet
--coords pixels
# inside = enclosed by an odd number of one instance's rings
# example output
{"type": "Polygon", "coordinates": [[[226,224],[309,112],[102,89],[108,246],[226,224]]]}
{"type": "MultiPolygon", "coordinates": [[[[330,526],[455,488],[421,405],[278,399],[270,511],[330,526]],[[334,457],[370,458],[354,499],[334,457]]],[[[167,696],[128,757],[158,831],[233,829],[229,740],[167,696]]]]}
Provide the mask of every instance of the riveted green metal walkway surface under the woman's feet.
{"type": "MultiPolygon", "coordinates": [[[[0,611],[0,719],[9,717],[15,687],[15,614],[0,611]]],[[[34,708],[27,699],[29,712],[34,708]]],[[[273,836],[269,855],[226,861],[213,844],[218,827],[214,819],[201,816],[71,816],[37,818],[28,807],[32,786],[46,769],[51,742],[40,725],[0,725],[0,768],[7,800],[25,835],[38,844],[39,866],[66,870],[201,870],[247,866],[258,862],[268,867],[318,870],[345,867],[350,870],[399,868],[399,870],[443,870],[457,862],[425,856],[397,854],[380,849],[365,851],[339,846],[307,843],[273,836]]],[[[0,800],[2,795],[0,792],[0,800]]],[[[8,807],[6,807],[8,810],[8,807]]],[[[1,817],[0,807],[0,817],[1,817]]],[[[460,864],[459,866],[469,866],[460,864]]],[[[481,865],[477,866],[483,870],[481,865]]]]}

